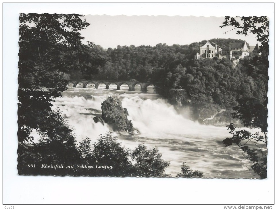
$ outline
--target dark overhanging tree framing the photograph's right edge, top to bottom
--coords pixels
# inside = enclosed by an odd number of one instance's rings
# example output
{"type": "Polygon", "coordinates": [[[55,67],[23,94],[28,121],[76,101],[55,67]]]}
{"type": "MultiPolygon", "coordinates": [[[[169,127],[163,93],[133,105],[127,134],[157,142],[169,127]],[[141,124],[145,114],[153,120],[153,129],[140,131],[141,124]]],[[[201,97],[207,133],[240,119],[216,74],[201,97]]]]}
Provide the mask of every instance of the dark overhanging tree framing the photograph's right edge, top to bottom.
{"type": "Polygon", "coordinates": [[[223,140],[225,146],[236,144],[251,163],[253,170],[259,178],[267,177],[267,103],[268,103],[268,35],[269,21],[265,16],[262,17],[225,17],[222,27],[234,27],[231,30],[237,30],[237,34],[253,33],[257,35],[257,41],[261,42],[261,56],[242,59],[238,63],[238,69],[242,71],[247,83],[241,85],[238,105],[233,108],[234,119],[241,120],[245,127],[250,129],[259,129],[253,133],[246,129],[238,129],[234,123],[227,127],[232,134],[231,138],[223,140]]]}

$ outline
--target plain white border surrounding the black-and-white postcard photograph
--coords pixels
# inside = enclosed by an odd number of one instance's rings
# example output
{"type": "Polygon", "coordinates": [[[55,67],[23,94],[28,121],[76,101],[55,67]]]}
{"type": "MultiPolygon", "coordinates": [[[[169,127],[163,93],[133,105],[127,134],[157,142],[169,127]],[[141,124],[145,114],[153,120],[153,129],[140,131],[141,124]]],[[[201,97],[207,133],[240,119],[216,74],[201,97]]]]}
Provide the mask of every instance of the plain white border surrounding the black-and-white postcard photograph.
{"type": "MultiPolygon", "coordinates": [[[[18,15],[77,13],[168,16],[268,16],[270,81],[268,139],[274,145],[274,5],[253,3],[4,3],[3,4],[3,202],[4,204],[272,204],[273,149],[267,180],[53,177],[17,175],[18,15]]],[[[243,39],[243,36],[241,37],[243,39]]],[[[200,40],[199,40],[200,41],[200,40]]],[[[20,209],[25,209],[25,206],[20,209]]],[[[41,207],[40,207],[41,208],[41,207]]],[[[45,207],[49,208],[49,207],[45,207]]],[[[82,208],[82,207],[80,207],[82,208]]],[[[133,208],[133,207],[132,207],[133,208]]],[[[179,208],[179,207],[176,207],[179,208]]],[[[192,208],[192,207],[191,207],[192,208]]],[[[27,208],[26,208],[27,209],[27,208]]],[[[30,209],[30,207],[28,208],[30,209]]],[[[207,206],[205,209],[216,209],[207,206]]],[[[220,207],[219,209],[223,209],[220,207]]]]}

